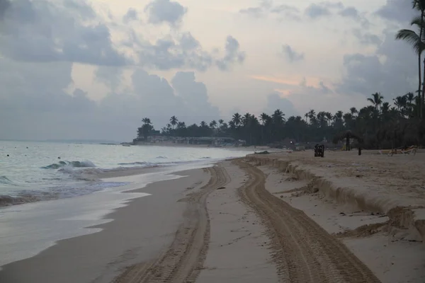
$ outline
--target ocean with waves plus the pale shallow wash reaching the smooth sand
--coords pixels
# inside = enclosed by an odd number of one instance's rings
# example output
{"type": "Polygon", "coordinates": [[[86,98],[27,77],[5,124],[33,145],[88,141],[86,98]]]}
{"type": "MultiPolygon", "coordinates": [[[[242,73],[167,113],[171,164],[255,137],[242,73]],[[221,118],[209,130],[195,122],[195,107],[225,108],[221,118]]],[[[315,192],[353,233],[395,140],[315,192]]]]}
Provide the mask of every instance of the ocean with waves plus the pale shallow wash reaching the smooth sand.
{"type": "Polygon", "coordinates": [[[92,227],[113,221],[105,219],[113,209],[149,196],[130,190],[251,152],[0,141],[0,270],[62,239],[101,231],[92,227]],[[128,173],[138,175],[119,177],[128,173]]]}

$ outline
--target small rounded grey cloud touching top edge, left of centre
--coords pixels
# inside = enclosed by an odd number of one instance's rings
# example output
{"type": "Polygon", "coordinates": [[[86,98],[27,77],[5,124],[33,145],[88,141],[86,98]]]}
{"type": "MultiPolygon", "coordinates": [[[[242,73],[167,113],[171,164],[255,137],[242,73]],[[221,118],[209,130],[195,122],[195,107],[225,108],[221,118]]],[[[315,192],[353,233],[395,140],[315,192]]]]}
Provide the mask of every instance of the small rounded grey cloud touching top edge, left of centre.
{"type": "Polygon", "coordinates": [[[145,11],[149,15],[149,23],[168,23],[169,25],[177,25],[187,12],[187,8],[175,1],[153,0],[147,4],[145,11]]]}

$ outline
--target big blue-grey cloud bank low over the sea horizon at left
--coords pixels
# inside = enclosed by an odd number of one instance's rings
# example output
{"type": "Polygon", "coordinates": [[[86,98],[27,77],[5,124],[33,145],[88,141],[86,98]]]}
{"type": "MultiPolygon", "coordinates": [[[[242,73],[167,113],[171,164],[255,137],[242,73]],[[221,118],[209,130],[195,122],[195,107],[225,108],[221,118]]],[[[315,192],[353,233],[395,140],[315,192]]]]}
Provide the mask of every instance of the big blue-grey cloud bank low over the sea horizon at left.
{"type": "MultiPolygon", "coordinates": [[[[220,117],[205,84],[193,72],[177,72],[171,84],[137,69],[131,88],[94,101],[74,89],[72,64],[0,59],[0,139],[113,139],[135,137],[143,117],[160,129],[176,115],[186,123],[220,117]]],[[[104,71],[101,67],[101,73],[104,71]]]]}

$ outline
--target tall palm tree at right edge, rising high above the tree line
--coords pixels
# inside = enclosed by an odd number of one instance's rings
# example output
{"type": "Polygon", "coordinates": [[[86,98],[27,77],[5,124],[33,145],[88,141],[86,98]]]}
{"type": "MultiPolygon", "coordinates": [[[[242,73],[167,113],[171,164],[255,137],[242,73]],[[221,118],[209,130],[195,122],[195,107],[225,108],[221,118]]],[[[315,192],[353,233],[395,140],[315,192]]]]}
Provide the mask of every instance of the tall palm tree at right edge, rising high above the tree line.
{"type": "MultiPolygon", "coordinates": [[[[402,29],[397,32],[395,35],[396,40],[404,40],[409,45],[412,45],[414,52],[416,52],[416,55],[418,56],[418,96],[421,103],[419,104],[419,117],[422,116],[422,103],[424,99],[424,90],[422,90],[421,93],[421,85],[422,85],[422,76],[421,76],[421,55],[424,51],[424,9],[425,9],[425,1],[424,0],[414,0],[413,1],[413,8],[419,9],[421,11],[421,16],[413,18],[410,25],[414,25],[416,29],[419,29],[419,35],[414,30],[407,30],[402,29]]],[[[425,75],[425,74],[424,74],[425,75]]]]}

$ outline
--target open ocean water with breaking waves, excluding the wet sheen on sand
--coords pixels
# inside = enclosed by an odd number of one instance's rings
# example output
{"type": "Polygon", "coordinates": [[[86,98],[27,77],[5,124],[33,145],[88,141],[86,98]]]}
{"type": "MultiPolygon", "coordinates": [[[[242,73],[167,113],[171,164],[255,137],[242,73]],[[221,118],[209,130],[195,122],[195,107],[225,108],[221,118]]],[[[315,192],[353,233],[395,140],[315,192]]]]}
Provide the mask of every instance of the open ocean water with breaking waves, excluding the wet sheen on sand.
{"type": "Polygon", "coordinates": [[[104,173],[244,156],[220,148],[0,141],[0,207],[118,187],[104,173]]]}

